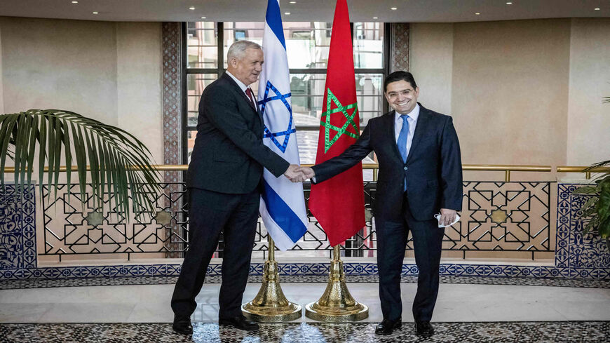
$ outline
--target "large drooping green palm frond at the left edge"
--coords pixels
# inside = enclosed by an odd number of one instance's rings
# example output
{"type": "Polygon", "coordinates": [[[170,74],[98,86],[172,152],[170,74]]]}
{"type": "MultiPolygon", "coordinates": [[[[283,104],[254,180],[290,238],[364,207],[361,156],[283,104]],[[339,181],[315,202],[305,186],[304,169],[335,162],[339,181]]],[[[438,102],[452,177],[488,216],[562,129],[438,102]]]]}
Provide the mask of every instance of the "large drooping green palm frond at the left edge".
{"type": "Polygon", "coordinates": [[[7,156],[15,164],[18,189],[31,183],[36,147],[39,148],[39,180],[42,183],[48,162],[48,188],[53,189],[54,196],[57,196],[64,156],[68,187],[72,163],[76,161],[81,199],[85,199],[89,166],[95,208],[102,207],[104,194],[108,193],[114,195],[115,205],[126,219],[130,213],[129,195],[134,208],[154,210],[154,200],[149,197],[161,192],[158,185],[161,178],[151,166],[149,149],[127,131],[58,109],[0,114],[0,184],[3,188],[7,156]],[[139,187],[134,186],[136,183],[139,187]]]}

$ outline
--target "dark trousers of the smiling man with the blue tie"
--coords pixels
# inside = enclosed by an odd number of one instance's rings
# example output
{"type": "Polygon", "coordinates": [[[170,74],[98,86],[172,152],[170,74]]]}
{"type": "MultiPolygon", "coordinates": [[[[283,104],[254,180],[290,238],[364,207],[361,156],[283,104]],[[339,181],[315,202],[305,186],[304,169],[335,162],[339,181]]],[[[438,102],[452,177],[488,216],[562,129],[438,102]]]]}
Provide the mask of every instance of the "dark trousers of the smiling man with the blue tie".
{"type": "Polygon", "coordinates": [[[408,199],[402,204],[402,220],[375,218],[377,231],[377,268],[379,269],[379,298],[384,319],[401,318],[400,273],[405,258],[407,236],[413,236],[415,263],[419,269],[417,293],[413,301],[415,321],[430,321],[438,295],[438,269],[445,229],[438,221],[415,220],[409,210],[408,199]]]}

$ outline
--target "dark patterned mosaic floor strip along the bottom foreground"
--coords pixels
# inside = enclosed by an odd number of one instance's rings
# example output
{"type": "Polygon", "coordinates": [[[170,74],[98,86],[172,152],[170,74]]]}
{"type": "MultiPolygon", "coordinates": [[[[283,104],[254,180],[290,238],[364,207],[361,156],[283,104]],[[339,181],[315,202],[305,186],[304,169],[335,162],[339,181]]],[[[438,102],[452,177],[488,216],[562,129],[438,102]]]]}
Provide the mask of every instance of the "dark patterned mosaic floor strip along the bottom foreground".
{"type": "Polygon", "coordinates": [[[179,335],[170,323],[0,324],[4,342],[608,342],[610,323],[465,322],[433,323],[435,335],[422,339],[413,323],[392,335],[374,334],[377,323],[273,323],[258,331],[217,323],[194,323],[193,335],[179,335]]]}

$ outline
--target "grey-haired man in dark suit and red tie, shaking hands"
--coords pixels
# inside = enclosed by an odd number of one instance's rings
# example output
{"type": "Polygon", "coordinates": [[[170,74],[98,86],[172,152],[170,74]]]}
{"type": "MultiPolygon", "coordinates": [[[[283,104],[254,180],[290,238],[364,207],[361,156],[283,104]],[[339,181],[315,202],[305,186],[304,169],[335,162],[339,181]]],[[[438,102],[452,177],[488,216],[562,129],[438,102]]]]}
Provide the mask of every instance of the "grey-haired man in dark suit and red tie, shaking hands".
{"type": "Polygon", "coordinates": [[[237,41],[226,59],[226,73],[201,95],[197,137],[187,172],[190,244],[172,296],[172,328],[184,334],[193,332],[190,316],[197,306],[195,297],[221,231],[219,324],[258,329],[257,323],[242,315],[240,306],[254,246],[263,168],[276,177],[303,180],[295,171],[298,166],[290,165],[262,142],[262,116],[248,87],[262,70],[261,47],[237,41]]]}

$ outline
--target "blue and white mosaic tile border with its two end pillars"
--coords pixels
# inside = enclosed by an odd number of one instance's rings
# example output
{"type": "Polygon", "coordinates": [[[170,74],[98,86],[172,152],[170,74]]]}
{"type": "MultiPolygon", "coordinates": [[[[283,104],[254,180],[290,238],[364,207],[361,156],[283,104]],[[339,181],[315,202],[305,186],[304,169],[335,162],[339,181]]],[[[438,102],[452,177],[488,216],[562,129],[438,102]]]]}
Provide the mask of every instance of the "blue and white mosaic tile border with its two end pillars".
{"type": "MultiPolygon", "coordinates": [[[[578,204],[585,201],[581,196],[572,195],[578,185],[559,184],[557,196],[557,245],[555,266],[522,266],[496,264],[441,264],[442,276],[495,276],[519,278],[578,278],[607,280],[610,278],[610,253],[604,241],[597,236],[581,234],[580,220],[576,218],[578,204]]],[[[18,198],[4,195],[5,215],[0,217],[2,248],[4,255],[0,260],[0,279],[69,279],[125,276],[177,276],[179,264],[120,264],[114,266],[86,267],[36,267],[36,244],[34,236],[34,193],[18,198]],[[20,208],[20,210],[17,210],[20,208]],[[10,215],[6,215],[10,213],[10,215]],[[15,213],[13,215],[13,213],[15,213]],[[20,230],[20,231],[19,231],[20,230]],[[15,232],[21,236],[14,236],[15,232]],[[13,234],[11,234],[13,233],[13,234]],[[13,235],[13,236],[11,236],[13,235]],[[7,237],[7,238],[4,238],[7,237]]],[[[0,208],[0,211],[2,208],[0,208]]],[[[264,264],[250,266],[252,276],[263,273],[264,264]]],[[[327,263],[279,263],[280,274],[325,275],[329,271],[327,263]]],[[[344,263],[347,275],[377,274],[375,263],[344,263]]],[[[220,264],[210,264],[209,276],[221,275],[220,264]]],[[[402,276],[415,276],[415,264],[404,264],[402,276]]]]}

